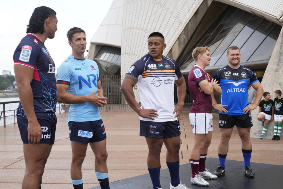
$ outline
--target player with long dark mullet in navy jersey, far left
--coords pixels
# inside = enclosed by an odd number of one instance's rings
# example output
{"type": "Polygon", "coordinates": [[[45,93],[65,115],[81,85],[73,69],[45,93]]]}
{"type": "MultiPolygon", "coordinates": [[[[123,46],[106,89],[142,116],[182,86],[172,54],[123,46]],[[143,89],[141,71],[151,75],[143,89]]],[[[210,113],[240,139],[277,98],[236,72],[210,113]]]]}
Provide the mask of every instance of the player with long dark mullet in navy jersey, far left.
{"type": "Polygon", "coordinates": [[[14,52],[14,72],[20,103],[17,122],[24,147],[23,189],[41,188],[42,174],[55,139],[57,89],[55,64],[44,45],[57,30],[56,12],[34,9],[27,35],[14,52]]]}

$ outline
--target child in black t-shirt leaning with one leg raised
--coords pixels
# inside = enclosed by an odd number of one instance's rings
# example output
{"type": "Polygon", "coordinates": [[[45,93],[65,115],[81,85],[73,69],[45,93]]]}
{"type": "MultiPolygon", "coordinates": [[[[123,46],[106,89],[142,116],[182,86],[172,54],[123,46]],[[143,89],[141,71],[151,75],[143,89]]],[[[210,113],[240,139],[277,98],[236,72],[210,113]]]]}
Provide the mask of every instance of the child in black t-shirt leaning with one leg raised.
{"type": "Polygon", "coordinates": [[[267,131],[268,123],[274,118],[274,102],[270,99],[270,93],[264,92],[263,97],[264,100],[259,102],[259,115],[257,116],[257,120],[259,121],[265,119],[260,139],[264,139],[264,134],[267,131]]]}

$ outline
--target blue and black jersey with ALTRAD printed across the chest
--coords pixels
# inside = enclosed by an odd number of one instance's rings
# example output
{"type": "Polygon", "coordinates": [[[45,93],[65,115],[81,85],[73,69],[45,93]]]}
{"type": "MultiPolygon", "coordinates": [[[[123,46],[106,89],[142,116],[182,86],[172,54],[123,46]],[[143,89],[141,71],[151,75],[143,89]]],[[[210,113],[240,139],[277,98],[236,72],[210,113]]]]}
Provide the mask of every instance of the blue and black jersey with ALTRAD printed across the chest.
{"type": "Polygon", "coordinates": [[[256,74],[250,69],[241,66],[233,69],[225,66],[213,73],[213,78],[218,80],[222,89],[221,104],[228,105],[228,115],[242,115],[243,109],[249,105],[248,87],[257,82],[256,74]]]}

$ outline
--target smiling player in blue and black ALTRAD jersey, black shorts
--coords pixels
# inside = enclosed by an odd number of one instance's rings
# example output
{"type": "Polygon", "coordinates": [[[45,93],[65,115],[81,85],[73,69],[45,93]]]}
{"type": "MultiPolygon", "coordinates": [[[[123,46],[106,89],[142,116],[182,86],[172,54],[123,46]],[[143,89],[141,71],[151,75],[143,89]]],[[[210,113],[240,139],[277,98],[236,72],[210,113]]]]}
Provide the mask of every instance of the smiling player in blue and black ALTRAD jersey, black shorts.
{"type": "Polygon", "coordinates": [[[218,145],[219,166],[214,174],[222,176],[225,173],[225,159],[228,153],[229,140],[233,127],[236,125],[242,141],[244,173],[248,177],[254,177],[254,171],[250,166],[250,130],[253,126],[250,113],[259,105],[263,88],[256,74],[240,65],[241,54],[237,46],[229,47],[226,56],[228,65],[213,73],[213,78],[217,79],[222,89],[221,104],[217,104],[212,95],[212,105],[220,111],[218,124],[221,133],[218,145]],[[256,97],[252,104],[248,102],[250,84],[256,90],[256,97]]]}

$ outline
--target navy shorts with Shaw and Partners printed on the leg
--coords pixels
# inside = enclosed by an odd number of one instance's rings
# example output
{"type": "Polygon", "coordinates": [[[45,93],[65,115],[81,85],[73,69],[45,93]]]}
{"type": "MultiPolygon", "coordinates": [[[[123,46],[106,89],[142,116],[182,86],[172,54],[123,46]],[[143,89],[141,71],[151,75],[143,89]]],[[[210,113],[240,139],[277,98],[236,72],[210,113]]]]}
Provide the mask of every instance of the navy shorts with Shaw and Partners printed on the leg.
{"type": "Polygon", "coordinates": [[[181,134],[179,121],[139,121],[139,136],[154,138],[172,138],[181,134]]]}

